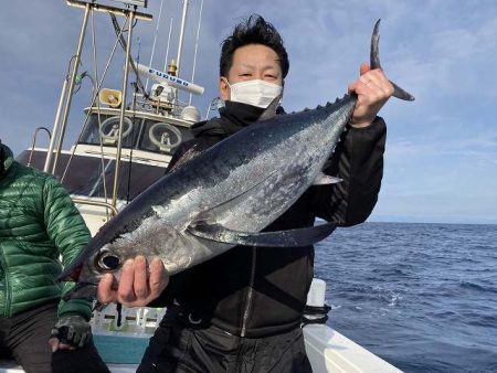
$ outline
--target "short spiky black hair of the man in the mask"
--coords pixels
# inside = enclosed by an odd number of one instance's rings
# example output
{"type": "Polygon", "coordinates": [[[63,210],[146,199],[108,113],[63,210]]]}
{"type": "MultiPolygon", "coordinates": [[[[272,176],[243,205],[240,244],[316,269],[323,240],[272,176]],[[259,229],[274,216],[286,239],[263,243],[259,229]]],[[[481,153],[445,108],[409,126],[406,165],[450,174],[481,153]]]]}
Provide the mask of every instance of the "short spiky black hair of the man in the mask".
{"type": "Polygon", "coordinates": [[[289,61],[283,45],[283,39],[274,25],[258,14],[252,14],[240,22],[234,28],[233,33],[221,43],[220,76],[228,76],[228,72],[233,64],[235,50],[248,44],[262,44],[275,51],[278,55],[283,78],[285,78],[289,68],[289,61]]]}

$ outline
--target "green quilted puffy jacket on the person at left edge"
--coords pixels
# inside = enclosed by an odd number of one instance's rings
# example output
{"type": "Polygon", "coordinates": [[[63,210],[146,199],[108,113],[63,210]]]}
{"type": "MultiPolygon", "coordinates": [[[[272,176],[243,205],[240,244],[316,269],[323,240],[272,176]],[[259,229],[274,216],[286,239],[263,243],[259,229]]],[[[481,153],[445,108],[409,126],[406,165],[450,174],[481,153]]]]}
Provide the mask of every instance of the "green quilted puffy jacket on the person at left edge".
{"type": "MultiPolygon", "coordinates": [[[[0,168],[0,318],[9,318],[60,300],[74,286],[55,279],[91,235],[55,178],[18,163],[7,146],[0,142],[0,147],[4,154],[4,171],[0,168]]],[[[89,320],[91,305],[61,300],[62,313],[89,320]]]]}

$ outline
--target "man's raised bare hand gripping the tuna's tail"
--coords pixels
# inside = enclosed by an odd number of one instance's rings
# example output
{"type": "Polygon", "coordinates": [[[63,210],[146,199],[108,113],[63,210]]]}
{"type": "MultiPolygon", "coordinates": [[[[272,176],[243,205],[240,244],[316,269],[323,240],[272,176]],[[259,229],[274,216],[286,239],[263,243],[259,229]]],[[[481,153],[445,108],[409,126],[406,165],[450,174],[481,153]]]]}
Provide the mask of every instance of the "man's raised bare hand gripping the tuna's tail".
{"type": "Polygon", "coordinates": [[[367,63],[361,64],[361,76],[349,85],[349,93],[358,96],[350,125],[368,127],[377,117],[381,107],[393,94],[393,86],[380,68],[371,70],[367,63]]]}

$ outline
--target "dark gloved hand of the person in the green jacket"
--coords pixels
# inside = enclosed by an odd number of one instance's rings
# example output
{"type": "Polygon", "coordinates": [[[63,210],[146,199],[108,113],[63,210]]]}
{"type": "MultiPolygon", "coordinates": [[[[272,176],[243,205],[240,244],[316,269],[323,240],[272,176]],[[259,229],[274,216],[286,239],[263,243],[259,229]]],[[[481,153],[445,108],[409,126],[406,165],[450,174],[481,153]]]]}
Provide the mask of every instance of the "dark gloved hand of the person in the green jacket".
{"type": "Polygon", "coordinates": [[[52,352],[57,350],[75,350],[85,345],[92,338],[88,321],[80,315],[63,315],[52,328],[49,343],[52,352]]]}

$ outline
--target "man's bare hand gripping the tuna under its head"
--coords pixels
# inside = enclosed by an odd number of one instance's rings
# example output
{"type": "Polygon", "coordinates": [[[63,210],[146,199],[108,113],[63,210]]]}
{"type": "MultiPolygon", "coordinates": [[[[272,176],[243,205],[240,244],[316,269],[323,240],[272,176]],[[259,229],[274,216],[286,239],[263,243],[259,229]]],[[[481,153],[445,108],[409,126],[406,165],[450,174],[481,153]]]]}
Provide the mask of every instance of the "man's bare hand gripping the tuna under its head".
{"type": "Polygon", "coordinates": [[[162,260],[155,257],[147,270],[147,260],[139,255],[123,266],[119,284],[112,274],[98,284],[97,298],[103,303],[119,302],[125,307],[144,307],[160,296],[169,283],[162,260]]]}

